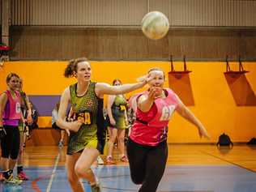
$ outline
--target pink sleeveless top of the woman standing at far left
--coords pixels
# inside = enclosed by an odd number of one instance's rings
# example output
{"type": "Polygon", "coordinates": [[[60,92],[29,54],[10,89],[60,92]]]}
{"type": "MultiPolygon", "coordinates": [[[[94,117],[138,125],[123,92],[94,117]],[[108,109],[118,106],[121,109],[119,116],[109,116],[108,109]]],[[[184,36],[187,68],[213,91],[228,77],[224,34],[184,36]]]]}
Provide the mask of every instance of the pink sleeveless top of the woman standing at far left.
{"type": "Polygon", "coordinates": [[[5,93],[8,100],[2,114],[2,123],[6,126],[18,126],[19,119],[21,118],[20,94],[19,92],[15,91],[16,97],[13,98],[9,90],[7,90],[5,93]]]}

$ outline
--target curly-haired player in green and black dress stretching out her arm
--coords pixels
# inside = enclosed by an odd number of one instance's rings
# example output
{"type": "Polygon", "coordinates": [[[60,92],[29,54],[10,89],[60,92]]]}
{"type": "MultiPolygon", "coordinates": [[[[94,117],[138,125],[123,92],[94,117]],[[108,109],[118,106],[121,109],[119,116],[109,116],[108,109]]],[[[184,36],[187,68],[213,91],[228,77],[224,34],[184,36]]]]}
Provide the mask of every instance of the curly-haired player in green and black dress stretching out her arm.
{"type": "Polygon", "coordinates": [[[143,87],[150,79],[122,86],[92,82],[92,69],[87,58],[71,60],[64,75],[77,79],[77,83],[66,87],[62,93],[57,119],[57,125],[70,134],[66,155],[68,181],[75,192],[84,191],[79,178],[90,183],[92,192],[100,192],[100,185],[92,173],[91,165],[102,153],[105,144],[103,96],[134,91],[143,87]],[[74,111],[74,122],[65,121],[69,103],[74,111]]]}

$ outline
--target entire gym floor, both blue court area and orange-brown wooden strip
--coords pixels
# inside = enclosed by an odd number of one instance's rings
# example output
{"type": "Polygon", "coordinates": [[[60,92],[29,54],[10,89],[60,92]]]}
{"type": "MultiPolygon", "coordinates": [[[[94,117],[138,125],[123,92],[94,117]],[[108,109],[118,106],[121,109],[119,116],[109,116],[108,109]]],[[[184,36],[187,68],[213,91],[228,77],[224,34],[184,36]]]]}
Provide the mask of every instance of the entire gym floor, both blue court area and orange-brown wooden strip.
{"type": "MultiPolygon", "coordinates": [[[[256,191],[256,147],[235,145],[169,144],[168,164],[158,192],[252,192],[256,191]]],[[[101,156],[105,160],[105,156],[101,156]]],[[[70,192],[66,177],[66,147],[25,147],[24,171],[29,180],[20,186],[0,182],[3,192],[70,192]]],[[[139,190],[130,179],[127,163],[92,166],[102,192],[134,192],[139,190]]],[[[14,171],[16,173],[16,169],[14,171]]],[[[84,189],[91,187],[83,181],[84,189]]]]}

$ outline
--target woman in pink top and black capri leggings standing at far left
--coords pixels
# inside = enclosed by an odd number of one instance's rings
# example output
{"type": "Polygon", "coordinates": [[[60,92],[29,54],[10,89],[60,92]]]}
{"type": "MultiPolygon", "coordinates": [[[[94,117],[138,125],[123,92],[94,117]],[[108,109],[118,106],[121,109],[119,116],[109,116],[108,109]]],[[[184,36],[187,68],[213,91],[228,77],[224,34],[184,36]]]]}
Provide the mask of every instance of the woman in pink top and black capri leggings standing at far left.
{"type": "Polygon", "coordinates": [[[20,94],[16,91],[19,86],[19,76],[15,73],[7,75],[7,90],[0,95],[0,136],[2,149],[2,170],[4,181],[19,185],[22,181],[13,177],[19,155],[19,120],[20,94]]]}

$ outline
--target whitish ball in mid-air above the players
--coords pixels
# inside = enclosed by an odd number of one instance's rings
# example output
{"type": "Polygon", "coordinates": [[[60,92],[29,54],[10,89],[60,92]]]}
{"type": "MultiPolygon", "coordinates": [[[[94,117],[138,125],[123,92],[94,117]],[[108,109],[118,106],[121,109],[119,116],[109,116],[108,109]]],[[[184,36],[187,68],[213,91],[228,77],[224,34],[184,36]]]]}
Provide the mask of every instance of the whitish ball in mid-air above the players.
{"type": "Polygon", "coordinates": [[[151,11],[143,17],[142,30],[148,38],[159,40],[169,31],[169,20],[160,11],[151,11]]]}

